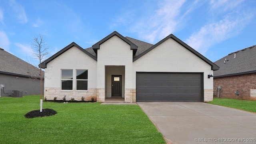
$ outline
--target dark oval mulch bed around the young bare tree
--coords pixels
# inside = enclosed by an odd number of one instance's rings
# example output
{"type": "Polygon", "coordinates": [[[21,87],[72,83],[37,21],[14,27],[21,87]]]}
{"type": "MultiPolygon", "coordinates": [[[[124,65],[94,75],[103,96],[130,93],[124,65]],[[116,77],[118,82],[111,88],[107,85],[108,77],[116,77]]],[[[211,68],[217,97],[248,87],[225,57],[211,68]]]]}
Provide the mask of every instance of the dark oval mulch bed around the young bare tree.
{"type": "Polygon", "coordinates": [[[50,108],[44,108],[42,109],[42,112],[40,110],[32,110],[31,112],[28,112],[25,114],[26,118],[36,118],[36,117],[44,117],[44,116],[52,116],[57,114],[57,112],[50,108]]]}

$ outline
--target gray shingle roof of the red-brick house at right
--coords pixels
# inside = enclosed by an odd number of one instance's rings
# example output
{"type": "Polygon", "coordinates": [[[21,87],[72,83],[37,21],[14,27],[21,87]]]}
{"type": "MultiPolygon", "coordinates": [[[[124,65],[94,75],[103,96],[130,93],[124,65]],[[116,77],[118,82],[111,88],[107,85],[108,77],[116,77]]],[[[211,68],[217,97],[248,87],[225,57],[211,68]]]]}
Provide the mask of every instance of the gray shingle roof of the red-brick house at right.
{"type": "Polygon", "coordinates": [[[220,67],[220,70],[214,71],[214,77],[254,73],[256,72],[256,45],[232,52],[214,64],[220,67]]]}

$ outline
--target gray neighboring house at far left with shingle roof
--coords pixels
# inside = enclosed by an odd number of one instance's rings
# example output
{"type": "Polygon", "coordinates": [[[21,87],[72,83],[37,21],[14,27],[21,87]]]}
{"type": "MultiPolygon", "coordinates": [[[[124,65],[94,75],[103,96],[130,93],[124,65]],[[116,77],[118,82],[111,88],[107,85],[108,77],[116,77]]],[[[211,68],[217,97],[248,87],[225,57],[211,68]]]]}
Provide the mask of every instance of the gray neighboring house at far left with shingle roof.
{"type": "Polygon", "coordinates": [[[40,94],[39,72],[40,69],[0,48],[0,84],[4,84],[1,96],[12,96],[12,90],[23,90],[22,95],[40,94]]]}

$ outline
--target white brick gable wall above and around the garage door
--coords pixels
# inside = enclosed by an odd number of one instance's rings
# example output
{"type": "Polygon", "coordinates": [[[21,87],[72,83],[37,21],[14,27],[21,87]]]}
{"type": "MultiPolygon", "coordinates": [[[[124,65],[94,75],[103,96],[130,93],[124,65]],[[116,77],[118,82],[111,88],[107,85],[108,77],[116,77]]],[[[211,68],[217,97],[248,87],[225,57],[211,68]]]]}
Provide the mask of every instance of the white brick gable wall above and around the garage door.
{"type": "Polygon", "coordinates": [[[213,74],[211,66],[172,38],[133,62],[132,88],[136,88],[136,72],[203,72],[204,89],[213,88],[213,78],[208,78],[213,74]]]}

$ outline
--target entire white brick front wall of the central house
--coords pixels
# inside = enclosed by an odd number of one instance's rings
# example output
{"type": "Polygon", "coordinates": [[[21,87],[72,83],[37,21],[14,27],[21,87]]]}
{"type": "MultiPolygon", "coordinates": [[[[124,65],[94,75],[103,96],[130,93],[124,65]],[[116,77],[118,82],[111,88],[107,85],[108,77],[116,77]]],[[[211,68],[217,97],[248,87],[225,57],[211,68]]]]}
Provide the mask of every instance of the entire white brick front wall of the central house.
{"type": "MultiPolygon", "coordinates": [[[[111,94],[111,75],[122,75],[122,96],[129,96],[126,98],[128,102],[135,101],[135,96],[125,90],[136,90],[136,72],[203,72],[205,101],[212,100],[213,78],[207,77],[210,72],[213,74],[211,66],[171,38],[132,62],[130,45],[113,36],[100,45],[97,58],[98,61],[76,47],[70,48],[47,64],[44,87],[48,90],[60,88],[61,69],[73,69],[73,77],[76,69],[88,69],[88,89],[96,88],[96,93],[100,94],[97,98],[104,101],[104,96],[111,94]],[[112,66],[123,69],[111,70],[112,66]]],[[[73,81],[73,91],[75,87],[76,81],[73,81]]]]}

